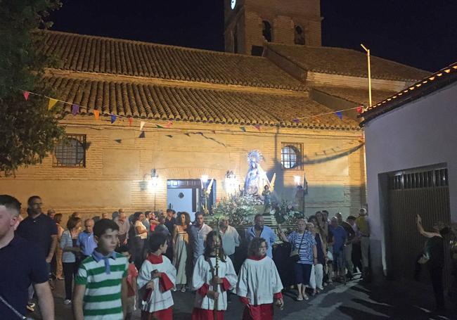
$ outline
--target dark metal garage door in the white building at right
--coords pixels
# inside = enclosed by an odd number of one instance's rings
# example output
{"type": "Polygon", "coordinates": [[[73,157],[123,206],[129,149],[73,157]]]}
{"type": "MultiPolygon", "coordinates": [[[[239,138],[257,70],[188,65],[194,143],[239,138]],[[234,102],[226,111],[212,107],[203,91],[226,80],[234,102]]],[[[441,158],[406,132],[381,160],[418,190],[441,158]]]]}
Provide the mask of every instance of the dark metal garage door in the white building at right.
{"type": "MultiPolygon", "coordinates": [[[[414,262],[426,240],[417,231],[417,214],[422,217],[425,231],[432,231],[436,221],[451,222],[448,185],[446,167],[408,170],[390,175],[388,233],[390,274],[394,278],[413,279],[414,262]]],[[[449,259],[447,252],[445,257],[449,259]]],[[[426,271],[422,274],[428,278],[426,271]]],[[[448,277],[449,268],[445,268],[445,278],[448,277]]],[[[445,279],[445,283],[449,283],[449,279],[445,279]]]]}

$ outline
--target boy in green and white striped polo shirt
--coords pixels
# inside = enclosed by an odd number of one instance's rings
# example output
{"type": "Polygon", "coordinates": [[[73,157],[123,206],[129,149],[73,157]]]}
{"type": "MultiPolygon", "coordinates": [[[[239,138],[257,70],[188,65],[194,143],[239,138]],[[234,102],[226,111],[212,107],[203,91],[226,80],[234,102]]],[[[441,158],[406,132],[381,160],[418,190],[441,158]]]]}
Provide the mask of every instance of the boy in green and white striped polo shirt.
{"type": "Polygon", "coordinates": [[[98,247],[79,266],[73,307],[76,320],[122,320],[127,313],[126,257],[115,252],[119,226],[110,219],[94,225],[98,247]]]}

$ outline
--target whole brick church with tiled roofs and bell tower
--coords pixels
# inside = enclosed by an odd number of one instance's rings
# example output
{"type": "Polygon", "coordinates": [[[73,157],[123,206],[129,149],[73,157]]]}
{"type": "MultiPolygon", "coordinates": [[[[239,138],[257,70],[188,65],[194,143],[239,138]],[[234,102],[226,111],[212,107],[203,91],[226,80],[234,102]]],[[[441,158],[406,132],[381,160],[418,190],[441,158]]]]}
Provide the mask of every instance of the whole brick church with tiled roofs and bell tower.
{"type": "MultiPolygon", "coordinates": [[[[305,215],[349,215],[365,206],[355,108],[368,100],[366,56],[320,46],[318,1],[302,15],[284,11],[280,1],[232,2],[226,53],[44,32],[41,50],[62,61],[46,69],[44,81],[65,114],[67,142],[41,165],[2,178],[0,192],[22,203],[39,194],[46,208],[64,214],[195,212],[209,181],[209,205],[239,192],[247,153],[257,150],[267,179],[276,174],[278,199],[293,201],[306,177],[305,215]],[[297,21],[304,41],[293,40],[297,21]],[[233,25],[243,27],[235,32],[233,25]]],[[[425,75],[373,57],[373,100],[425,75]]]]}

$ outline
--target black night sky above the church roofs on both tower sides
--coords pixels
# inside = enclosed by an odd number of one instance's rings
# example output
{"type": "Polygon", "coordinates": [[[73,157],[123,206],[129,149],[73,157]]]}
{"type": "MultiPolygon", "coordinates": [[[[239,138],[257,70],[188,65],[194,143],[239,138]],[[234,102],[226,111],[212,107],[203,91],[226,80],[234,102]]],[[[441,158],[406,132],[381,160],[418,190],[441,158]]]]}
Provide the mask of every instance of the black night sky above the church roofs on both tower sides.
{"type": "MultiPolygon", "coordinates": [[[[288,1],[288,0],[283,0],[288,1]]],[[[324,46],[437,71],[457,61],[457,0],[321,0],[324,46]]],[[[52,30],[224,51],[223,0],[63,0],[52,30]]]]}

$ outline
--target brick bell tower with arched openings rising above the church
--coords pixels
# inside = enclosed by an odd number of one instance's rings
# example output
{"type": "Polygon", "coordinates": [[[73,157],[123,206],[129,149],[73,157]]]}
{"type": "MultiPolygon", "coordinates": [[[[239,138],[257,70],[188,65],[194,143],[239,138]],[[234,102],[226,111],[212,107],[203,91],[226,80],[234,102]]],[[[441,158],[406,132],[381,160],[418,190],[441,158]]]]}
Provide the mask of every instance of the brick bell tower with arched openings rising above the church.
{"type": "Polygon", "coordinates": [[[225,51],[262,55],[264,41],[321,46],[321,0],[224,0],[225,51]]]}

